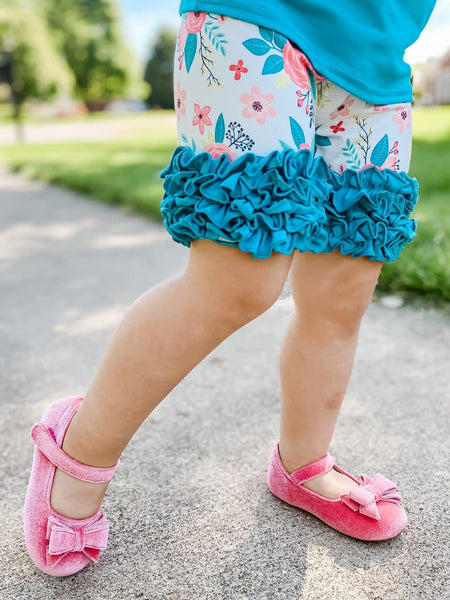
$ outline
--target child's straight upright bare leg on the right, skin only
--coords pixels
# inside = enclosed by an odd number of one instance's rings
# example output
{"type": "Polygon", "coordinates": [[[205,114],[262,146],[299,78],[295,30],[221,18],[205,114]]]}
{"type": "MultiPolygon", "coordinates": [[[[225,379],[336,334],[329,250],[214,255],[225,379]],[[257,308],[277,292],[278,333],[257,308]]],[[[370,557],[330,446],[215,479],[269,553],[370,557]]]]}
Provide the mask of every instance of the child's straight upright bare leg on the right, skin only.
{"type": "MultiPolygon", "coordinates": [[[[360,321],[381,265],[338,251],[294,257],[289,280],[295,313],[280,361],[280,455],[289,472],[328,450],[353,367],[360,321]]],[[[336,498],[356,484],[332,470],[305,485],[336,498]]]]}

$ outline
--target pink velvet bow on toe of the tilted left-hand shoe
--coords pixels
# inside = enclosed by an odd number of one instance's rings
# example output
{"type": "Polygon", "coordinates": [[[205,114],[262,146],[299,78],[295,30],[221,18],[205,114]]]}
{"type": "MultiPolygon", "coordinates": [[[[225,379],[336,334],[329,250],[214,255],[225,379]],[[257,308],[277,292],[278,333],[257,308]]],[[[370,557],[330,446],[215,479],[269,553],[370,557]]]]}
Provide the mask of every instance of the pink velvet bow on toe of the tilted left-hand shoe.
{"type": "Polygon", "coordinates": [[[83,552],[93,563],[105,550],[109,527],[104,514],[83,527],[72,527],[55,516],[47,521],[47,565],[55,566],[71,552],[83,552]]]}

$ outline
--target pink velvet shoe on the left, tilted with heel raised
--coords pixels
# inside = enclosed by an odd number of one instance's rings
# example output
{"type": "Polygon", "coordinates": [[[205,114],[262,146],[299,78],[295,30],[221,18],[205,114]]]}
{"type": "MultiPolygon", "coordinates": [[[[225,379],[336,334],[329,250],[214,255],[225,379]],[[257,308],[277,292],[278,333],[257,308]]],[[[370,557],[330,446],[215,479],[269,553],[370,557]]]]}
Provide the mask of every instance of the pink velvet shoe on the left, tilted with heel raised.
{"type": "Polygon", "coordinates": [[[119,464],[89,467],[62,450],[67,428],[81,401],[76,397],[57,400],[31,430],[36,446],[25,498],[25,543],[35,565],[48,575],[73,575],[89,562],[97,563],[108,540],[106,517],[100,511],[86,519],[70,519],[50,505],[56,467],[83,481],[102,483],[112,478],[119,464]]]}

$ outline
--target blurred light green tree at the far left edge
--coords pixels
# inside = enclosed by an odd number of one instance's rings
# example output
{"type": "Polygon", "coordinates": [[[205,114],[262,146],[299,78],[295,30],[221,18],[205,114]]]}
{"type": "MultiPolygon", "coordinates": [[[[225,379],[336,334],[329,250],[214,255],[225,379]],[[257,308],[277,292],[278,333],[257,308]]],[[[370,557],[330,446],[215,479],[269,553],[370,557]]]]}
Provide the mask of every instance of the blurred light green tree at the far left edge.
{"type": "Polygon", "coordinates": [[[71,89],[71,72],[45,21],[33,11],[0,5],[0,55],[3,64],[10,65],[8,83],[17,121],[29,98],[49,100],[71,89]]]}

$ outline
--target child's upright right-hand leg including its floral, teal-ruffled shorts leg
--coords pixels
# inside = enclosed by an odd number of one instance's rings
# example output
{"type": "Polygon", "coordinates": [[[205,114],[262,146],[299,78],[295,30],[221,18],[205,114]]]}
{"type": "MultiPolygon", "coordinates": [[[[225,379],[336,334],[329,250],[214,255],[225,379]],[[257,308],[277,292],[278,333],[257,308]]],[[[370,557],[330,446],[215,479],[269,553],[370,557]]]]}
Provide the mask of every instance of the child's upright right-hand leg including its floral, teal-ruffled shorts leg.
{"type": "MultiPolygon", "coordinates": [[[[411,107],[372,106],[326,80],[316,81],[316,87],[316,126],[322,136],[317,154],[341,174],[360,172],[359,185],[367,186],[358,196],[356,177],[345,184],[342,176],[340,185],[349,185],[348,194],[338,190],[327,207],[333,243],[340,237],[343,252],[370,255],[376,249],[375,256],[392,260],[411,239],[408,213],[414,206],[414,186],[401,173],[409,167],[411,107]]],[[[328,450],[352,371],[360,321],[381,265],[381,258],[344,256],[338,250],[294,258],[290,281],[295,314],[281,355],[280,453],[288,471],[328,450]]],[[[305,485],[337,497],[354,485],[338,475],[332,470],[305,485]]]]}

